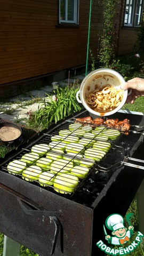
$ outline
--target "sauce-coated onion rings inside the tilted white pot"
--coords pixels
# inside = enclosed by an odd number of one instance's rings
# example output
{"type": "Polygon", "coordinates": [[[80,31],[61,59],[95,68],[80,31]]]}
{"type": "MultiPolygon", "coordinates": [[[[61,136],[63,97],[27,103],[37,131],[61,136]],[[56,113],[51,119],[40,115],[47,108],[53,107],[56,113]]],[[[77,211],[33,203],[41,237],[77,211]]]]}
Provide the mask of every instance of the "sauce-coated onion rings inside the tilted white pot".
{"type": "Polygon", "coordinates": [[[117,90],[115,87],[107,84],[97,86],[97,89],[86,94],[86,102],[91,108],[111,111],[118,107],[123,99],[123,90],[117,90]]]}

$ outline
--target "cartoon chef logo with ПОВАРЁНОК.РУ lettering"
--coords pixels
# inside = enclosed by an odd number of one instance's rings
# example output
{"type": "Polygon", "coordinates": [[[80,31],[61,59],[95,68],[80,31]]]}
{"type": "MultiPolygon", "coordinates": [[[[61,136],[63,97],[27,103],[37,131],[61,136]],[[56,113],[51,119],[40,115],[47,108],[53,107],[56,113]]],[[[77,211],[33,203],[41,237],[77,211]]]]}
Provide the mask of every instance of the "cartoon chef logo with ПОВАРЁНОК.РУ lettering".
{"type": "Polygon", "coordinates": [[[105,221],[105,224],[103,225],[103,232],[105,234],[106,242],[117,246],[117,249],[107,246],[101,240],[96,245],[102,251],[105,251],[105,253],[110,255],[126,255],[134,251],[135,248],[137,248],[142,242],[143,234],[138,231],[137,236],[134,236],[133,238],[133,226],[130,222],[132,218],[133,213],[128,213],[126,215],[125,219],[128,224],[128,227],[126,228],[122,215],[117,213],[109,215],[105,221]]]}

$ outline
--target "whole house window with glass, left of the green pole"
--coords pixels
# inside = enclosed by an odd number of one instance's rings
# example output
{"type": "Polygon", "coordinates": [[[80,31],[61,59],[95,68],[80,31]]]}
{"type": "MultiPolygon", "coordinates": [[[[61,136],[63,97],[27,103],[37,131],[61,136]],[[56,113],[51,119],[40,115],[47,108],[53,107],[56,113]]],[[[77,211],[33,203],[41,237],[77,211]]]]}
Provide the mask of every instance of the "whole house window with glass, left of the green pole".
{"type": "Polygon", "coordinates": [[[78,0],[59,0],[59,23],[78,24],[78,0]]]}

